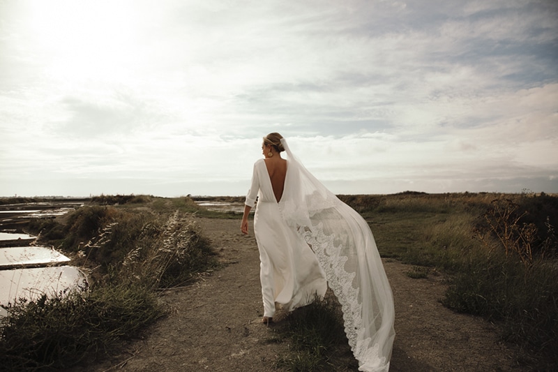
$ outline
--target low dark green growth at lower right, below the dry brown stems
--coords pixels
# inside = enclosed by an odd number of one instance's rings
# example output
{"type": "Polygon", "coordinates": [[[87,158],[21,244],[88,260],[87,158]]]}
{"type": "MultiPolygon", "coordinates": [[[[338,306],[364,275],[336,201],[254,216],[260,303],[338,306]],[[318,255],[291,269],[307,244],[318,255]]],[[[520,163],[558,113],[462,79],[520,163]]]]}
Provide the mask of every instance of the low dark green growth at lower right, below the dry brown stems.
{"type": "Polygon", "coordinates": [[[502,336],[521,346],[523,362],[540,371],[558,366],[558,267],[525,265],[502,251],[477,251],[450,277],[442,303],[482,315],[502,326],[502,336]]]}

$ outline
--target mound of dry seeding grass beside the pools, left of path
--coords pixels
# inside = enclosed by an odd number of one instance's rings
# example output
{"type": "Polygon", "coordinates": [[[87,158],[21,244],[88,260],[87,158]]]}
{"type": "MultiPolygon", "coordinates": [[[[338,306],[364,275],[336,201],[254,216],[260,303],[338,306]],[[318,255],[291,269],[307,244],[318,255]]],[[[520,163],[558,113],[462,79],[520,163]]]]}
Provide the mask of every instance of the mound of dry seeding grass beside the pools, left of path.
{"type": "Polygon", "coordinates": [[[70,214],[66,225],[38,221],[42,225],[33,228],[45,244],[73,255],[75,265],[94,268],[93,278],[116,271],[119,276],[141,276],[151,286],[168,287],[190,281],[216,262],[192,214],[173,211],[172,205],[153,211],[145,205],[93,204],[70,214]]]}

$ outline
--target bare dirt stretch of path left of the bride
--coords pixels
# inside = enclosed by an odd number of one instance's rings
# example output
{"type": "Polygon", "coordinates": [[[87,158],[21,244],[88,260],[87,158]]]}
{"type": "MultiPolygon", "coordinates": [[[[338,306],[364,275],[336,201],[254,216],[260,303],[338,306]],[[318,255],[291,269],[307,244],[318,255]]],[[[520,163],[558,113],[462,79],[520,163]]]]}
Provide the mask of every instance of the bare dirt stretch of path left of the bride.
{"type": "Polygon", "coordinates": [[[161,300],[169,315],[147,329],[143,339],[123,345],[116,357],[89,365],[89,371],[276,371],[273,362],[287,345],[269,343],[273,328],[259,322],[253,232],[243,236],[236,219],[199,218],[197,223],[225,267],[186,288],[164,291],[161,300]]]}

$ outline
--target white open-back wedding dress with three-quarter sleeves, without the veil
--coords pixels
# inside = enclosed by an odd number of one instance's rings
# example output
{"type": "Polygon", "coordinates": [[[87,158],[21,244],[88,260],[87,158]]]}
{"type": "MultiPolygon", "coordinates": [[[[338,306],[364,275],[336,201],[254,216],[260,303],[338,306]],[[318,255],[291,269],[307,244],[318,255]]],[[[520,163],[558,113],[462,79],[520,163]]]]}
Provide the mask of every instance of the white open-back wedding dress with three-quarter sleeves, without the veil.
{"type": "Polygon", "coordinates": [[[259,250],[259,278],[262,282],[264,316],[273,317],[276,302],[292,311],[306,305],[327,289],[324,272],[306,241],[287,225],[282,210],[289,197],[289,164],[281,200],[276,200],[264,159],[254,165],[252,186],[246,204],[253,207],[256,196],[254,232],[259,250]],[[258,193],[259,191],[259,193],[258,193]]]}

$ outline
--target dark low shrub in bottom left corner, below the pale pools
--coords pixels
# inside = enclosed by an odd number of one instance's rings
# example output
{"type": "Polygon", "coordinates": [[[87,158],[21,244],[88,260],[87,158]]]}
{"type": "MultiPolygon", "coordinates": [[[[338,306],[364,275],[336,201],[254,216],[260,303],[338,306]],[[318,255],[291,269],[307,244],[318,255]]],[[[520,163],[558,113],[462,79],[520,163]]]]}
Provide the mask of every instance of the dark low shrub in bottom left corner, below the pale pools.
{"type": "Polygon", "coordinates": [[[71,366],[163,315],[151,290],[128,283],[20,300],[8,311],[0,319],[0,364],[7,371],[71,366]]]}

